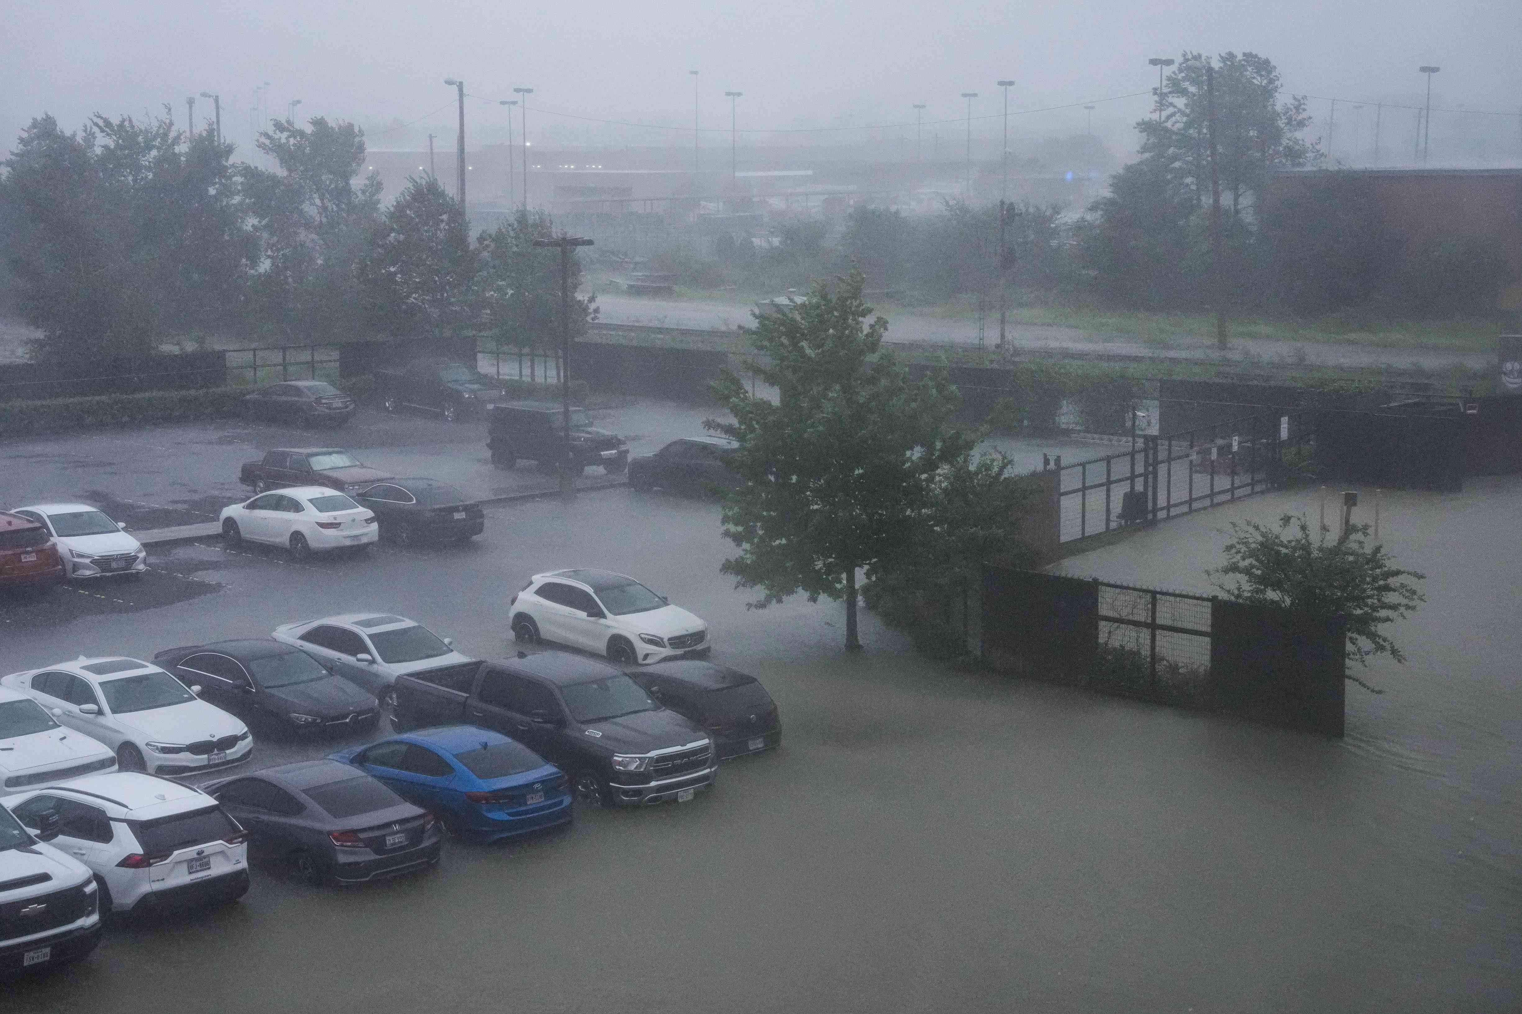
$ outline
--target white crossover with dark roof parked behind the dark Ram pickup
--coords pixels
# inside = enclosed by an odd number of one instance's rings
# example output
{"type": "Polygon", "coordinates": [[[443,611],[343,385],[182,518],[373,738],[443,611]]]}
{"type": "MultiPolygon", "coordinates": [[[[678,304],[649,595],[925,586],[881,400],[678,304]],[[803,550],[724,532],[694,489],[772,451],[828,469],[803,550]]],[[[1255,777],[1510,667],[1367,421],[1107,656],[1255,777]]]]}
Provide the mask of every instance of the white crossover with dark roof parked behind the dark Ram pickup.
{"type": "Polygon", "coordinates": [[[711,648],[703,620],[606,570],[534,575],[508,608],[517,642],[556,642],[624,664],[700,658],[711,648]]]}

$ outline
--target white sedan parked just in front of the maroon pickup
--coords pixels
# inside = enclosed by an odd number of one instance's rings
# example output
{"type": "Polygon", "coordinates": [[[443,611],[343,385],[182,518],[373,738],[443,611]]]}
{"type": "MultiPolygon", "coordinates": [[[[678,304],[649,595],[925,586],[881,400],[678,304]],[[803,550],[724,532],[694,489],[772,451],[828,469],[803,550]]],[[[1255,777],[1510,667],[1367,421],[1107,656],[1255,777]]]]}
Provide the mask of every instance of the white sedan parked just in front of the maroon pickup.
{"type": "Polygon", "coordinates": [[[253,500],[222,508],[222,538],[237,546],[285,546],[297,559],[314,552],[362,552],[379,537],[376,515],[327,486],[291,486],[260,493],[253,500]]]}

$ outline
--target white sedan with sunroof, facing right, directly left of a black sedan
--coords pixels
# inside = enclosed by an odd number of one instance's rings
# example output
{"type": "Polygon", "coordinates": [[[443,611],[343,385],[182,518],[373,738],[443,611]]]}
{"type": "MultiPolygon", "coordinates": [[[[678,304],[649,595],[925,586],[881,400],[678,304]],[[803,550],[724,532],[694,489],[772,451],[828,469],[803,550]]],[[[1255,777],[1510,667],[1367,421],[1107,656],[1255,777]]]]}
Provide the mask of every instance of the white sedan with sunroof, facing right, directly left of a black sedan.
{"type": "Polygon", "coordinates": [[[227,768],[254,749],[248,727],[137,658],[76,658],[0,678],[68,728],[116,751],[122,771],[189,775],[227,768]]]}

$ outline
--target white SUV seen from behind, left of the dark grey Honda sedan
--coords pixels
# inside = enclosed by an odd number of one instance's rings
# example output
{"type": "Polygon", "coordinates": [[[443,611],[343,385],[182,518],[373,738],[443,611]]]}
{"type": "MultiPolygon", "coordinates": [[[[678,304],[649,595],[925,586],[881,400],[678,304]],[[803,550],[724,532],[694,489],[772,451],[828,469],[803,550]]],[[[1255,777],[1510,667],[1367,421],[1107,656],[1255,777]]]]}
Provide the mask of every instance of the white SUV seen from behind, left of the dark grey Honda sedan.
{"type": "Polygon", "coordinates": [[[120,771],[0,801],[32,830],[58,815],[53,848],[94,873],[103,912],[218,905],[248,892],[244,829],[199,789],[120,771]]]}

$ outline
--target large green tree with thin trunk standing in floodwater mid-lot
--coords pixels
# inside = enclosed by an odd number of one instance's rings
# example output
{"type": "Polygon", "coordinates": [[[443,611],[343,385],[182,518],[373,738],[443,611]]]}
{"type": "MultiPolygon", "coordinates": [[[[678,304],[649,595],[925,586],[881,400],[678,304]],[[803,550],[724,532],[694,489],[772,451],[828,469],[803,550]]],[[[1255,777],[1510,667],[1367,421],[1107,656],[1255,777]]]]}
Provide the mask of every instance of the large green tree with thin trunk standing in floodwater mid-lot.
{"type": "Polygon", "coordinates": [[[740,547],[723,572],[758,588],[764,608],[790,594],[843,599],[846,649],[857,635],[857,570],[909,566],[936,538],[944,470],[971,438],[947,424],[957,397],[941,377],[913,382],[881,350],[887,321],[868,322],[864,278],[816,283],[807,299],[756,315],[744,328],[770,366],[776,404],[726,372],[715,385],[734,423],[705,423],[738,442],[744,486],[724,503],[724,537],[740,547]]]}

